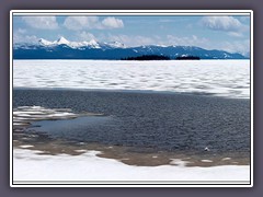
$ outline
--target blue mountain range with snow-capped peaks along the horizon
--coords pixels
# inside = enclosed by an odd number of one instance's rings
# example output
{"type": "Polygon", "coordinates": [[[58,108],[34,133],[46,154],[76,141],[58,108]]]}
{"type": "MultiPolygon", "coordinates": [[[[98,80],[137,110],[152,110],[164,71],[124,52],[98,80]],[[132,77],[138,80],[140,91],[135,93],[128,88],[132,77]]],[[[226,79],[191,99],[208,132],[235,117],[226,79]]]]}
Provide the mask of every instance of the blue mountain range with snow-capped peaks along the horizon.
{"type": "Polygon", "coordinates": [[[195,56],[201,59],[248,59],[241,54],[231,54],[224,50],[207,50],[195,46],[160,46],[148,45],[126,47],[119,42],[99,43],[94,39],[89,42],[69,42],[60,37],[55,42],[41,38],[35,44],[14,44],[14,59],[123,59],[144,55],[167,56],[171,59],[176,57],[195,56]]]}

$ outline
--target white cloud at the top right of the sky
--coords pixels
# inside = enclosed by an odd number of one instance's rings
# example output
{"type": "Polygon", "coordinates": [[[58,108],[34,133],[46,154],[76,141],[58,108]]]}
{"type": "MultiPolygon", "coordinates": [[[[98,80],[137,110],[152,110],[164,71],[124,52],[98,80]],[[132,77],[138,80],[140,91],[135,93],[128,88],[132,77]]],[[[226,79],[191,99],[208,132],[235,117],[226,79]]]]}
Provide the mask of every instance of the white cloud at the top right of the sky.
{"type": "Polygon", "coordinates": [[[202,24],[214,31],[236,32],[242,28],[239,20],[232,16],[204,16],[202,24]]]}

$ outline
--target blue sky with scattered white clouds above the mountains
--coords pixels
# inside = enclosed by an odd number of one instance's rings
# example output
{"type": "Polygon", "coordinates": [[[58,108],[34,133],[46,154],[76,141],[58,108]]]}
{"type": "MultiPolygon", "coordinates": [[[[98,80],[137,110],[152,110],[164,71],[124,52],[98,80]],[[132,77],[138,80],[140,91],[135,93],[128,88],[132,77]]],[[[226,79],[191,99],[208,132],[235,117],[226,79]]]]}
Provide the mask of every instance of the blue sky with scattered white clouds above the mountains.
{"type": "Polygon", "coordinates": [[[121,42],[125,46],[198,46],[247,55],[250,51],[250,16],[13,16],[14,43],[34,43],[39,38],[53,42],[61,36],[71,42],[95,39],[121,42]]]}

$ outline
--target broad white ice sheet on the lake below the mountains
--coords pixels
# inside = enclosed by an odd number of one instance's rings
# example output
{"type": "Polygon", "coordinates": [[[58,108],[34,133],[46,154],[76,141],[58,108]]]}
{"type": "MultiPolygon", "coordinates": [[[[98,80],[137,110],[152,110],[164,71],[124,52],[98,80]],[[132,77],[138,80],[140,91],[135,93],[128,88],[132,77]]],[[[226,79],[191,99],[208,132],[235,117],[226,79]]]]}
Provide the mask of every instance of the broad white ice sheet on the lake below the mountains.
{"type": "Polygon", "coordinates": [[[14,60],[14,88],[150,90],[250,97],[250,60],[14,60]]]}

